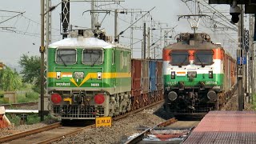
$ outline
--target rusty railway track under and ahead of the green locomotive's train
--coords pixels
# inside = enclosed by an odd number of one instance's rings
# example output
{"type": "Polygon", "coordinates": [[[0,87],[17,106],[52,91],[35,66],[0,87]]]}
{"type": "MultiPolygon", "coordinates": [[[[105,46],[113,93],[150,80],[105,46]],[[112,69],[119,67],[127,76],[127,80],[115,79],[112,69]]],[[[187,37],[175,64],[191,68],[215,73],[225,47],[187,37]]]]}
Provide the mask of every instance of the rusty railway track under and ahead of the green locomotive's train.
{"type": "MultiPolygon", "coordinates": [[[[163,102],[155,102],[149,106],[145,106],[143,108],[140,108],[138,110],[131,111],[129,113],[114,117],[113,120],[117,121],[122,118],[126,118],[130,114],[138,113],[139,111],[142,111],[146,108],[149,108],[151,106],[155,106],[159,103],[163,102]]],[[[50,126],[45,126],[42,128],[38,128],[35,130],[28,130],[25,132],[20,132],[18,134],[11,134],[6,137],[0,138],[0,143],[7,142],[8,144],[11,143],[50,143],[50,142],[56,142],[61,140],[62,138],[78,134],[82,130],[89,130],[91,128],[94,128],[95,125],[89,125],[84,127],[71,127],[71,126],[62,126],[60,122],[52,124],[50,126]]]]}

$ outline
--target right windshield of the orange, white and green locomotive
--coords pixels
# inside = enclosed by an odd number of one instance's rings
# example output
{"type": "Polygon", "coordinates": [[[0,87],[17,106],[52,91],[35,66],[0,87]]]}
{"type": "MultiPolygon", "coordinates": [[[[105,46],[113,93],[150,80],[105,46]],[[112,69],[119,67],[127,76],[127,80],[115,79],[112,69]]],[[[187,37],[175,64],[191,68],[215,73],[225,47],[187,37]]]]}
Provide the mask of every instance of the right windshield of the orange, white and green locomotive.
{"type": "Polygon", "coordinates": [[[195,65],[211,65],[213,64],[213,55],[212,50],[200,50],[194,53],[194,64],[195,65]]]}

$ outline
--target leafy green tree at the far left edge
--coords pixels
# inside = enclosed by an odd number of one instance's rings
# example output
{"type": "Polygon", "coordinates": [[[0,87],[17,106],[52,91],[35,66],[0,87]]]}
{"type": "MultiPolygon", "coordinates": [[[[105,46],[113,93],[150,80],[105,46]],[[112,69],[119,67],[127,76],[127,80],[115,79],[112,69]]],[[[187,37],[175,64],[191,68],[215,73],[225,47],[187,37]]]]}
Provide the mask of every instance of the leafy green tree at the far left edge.
{"type": "Polygon", "coordinates": [[[8,66],[0,70],[0,88],[4,91],[19,90],[22,87],[22,78],[17,71],[11,70],[8,66]]]}

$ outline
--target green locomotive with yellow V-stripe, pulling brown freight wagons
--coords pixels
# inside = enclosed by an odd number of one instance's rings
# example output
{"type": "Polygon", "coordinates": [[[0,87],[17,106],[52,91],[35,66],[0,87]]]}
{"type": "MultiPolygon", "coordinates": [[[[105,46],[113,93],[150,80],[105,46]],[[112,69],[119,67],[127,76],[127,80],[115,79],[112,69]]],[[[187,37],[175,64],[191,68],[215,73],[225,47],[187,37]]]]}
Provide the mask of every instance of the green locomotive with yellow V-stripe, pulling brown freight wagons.
{"type": "Polygon", "coordinates": [[[162,89],[151,88],[151,84],[160,86],[157,79],[162,73],[157,73],[155,65],[155,74],[148,72],[150,63],[160,63],[162,69],[162,62],[131,59],[129,48],[107,42],[102,34],[84,34],[73,34],[48,47],[47,91],[52,116],[112,117],[163,99],[162,89]]]}

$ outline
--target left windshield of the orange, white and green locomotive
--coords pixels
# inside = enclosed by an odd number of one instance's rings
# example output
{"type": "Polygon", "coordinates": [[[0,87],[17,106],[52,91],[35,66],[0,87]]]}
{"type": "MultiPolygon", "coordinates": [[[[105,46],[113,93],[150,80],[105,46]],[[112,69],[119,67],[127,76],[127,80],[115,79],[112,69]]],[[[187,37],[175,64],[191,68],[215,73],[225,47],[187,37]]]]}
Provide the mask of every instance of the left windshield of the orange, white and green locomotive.
{"type": "Polygon", "coordinates": [[[187,51],[172,51],[170,53],[170,64],[173,66],[186,66],[189,64],[189,53],[187,51]]]}

